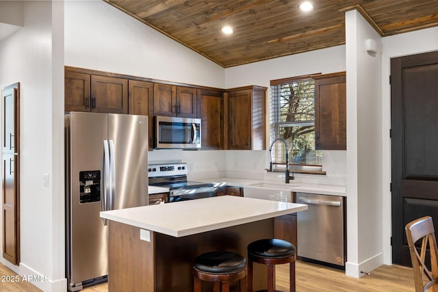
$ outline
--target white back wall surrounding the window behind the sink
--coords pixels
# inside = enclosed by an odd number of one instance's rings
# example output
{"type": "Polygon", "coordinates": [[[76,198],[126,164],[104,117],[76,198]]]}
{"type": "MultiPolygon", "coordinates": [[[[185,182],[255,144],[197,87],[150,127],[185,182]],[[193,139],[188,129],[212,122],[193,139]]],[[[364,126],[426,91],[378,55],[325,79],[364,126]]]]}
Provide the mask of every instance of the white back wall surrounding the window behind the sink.
{"type": "MultiPolygon", "coordinates": [[[[268,88],[266,92],[266,108],[269,109],[270,81],[300,75],[322,74],[341,72],[346,70],[345,46],[332,47],[318,51],[310,51],[287,57],[279,57],[253,64],[246,64],[225,69],[225,88],[235,88],[244,85],[261,85],[268,88]]],[[[269,110],[268,110],[269,112],[269,110]]],[[[266,133],[269,137],[269,116],[266,116],[266,133]]],[[[266,142],[269,148],[270,141],[266,142]]],[[[242,155],[242,151],[227,151],[229,168],[227,173],[231,176],[260,176],[272,181],[283,181],[283,176],[267,174],[268,151],[251,151],[242,155]],[[261,163],[259,162],[261,159],[261,163]],[[246,163],[250,161],[251,163],[246,163]],[[238,165],[235,167],[235,165],[238,165]],[[256,168],[254,166],[257,166],[256,168]],[[243,173],[240,173],[243,168],[243,173]]],[[[329,185],[345,185],[346,181],[346,151],[323,151],[322,168],[326,176],[296,174],[296,181],[307,183],[326,183],[329,185]]]]}

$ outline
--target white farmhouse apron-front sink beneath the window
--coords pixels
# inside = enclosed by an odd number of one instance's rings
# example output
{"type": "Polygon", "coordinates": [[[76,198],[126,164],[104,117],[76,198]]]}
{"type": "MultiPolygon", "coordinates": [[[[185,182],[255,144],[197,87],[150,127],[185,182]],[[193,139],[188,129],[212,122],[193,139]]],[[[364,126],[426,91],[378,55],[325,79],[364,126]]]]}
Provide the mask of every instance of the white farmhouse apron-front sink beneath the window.
{"type": "Polygon", "coordinates": [[[246,185],[244,186],[244,197],[292,202],[291,187],[298,187],[298,185],[292,183],[256,183],[254,185],[246,185]]]}

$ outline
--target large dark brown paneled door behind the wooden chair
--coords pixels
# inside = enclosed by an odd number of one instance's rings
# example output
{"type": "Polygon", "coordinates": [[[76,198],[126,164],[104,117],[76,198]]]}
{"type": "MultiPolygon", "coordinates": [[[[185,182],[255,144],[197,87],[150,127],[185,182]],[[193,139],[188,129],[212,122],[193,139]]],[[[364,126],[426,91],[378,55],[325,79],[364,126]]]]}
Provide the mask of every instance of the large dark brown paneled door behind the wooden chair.
{"type": "MultiPolygon", "coordinates": [[[[438,51],[391,59],[393,263],[411,265],[404,226],[438,227],[438,51]]],[[[437,233],[438,234],[438,233],[437,233]]]]}

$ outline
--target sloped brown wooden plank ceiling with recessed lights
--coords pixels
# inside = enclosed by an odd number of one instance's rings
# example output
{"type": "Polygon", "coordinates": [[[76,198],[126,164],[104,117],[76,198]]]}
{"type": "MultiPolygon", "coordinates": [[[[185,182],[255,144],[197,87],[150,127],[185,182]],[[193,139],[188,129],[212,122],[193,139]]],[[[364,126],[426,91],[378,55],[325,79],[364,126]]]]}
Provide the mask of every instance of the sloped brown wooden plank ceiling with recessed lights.
{"type": "Polygon", "coordinates": [[[104,1],[224,68],[345,44],[352,9],[381,36],[438,25],[438,0],[313,0],[307,13],[300,0],[104,1]]]}

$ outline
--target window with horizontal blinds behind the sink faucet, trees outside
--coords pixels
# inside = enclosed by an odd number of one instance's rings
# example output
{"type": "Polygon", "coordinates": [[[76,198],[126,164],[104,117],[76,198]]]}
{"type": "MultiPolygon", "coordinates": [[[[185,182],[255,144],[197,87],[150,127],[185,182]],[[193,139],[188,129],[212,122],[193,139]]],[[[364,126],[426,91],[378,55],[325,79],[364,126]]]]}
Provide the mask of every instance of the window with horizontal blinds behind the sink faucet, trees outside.
{"type": "Polygon", "coordinates": [[[271,81],[270,141],[272,162],[321,165],[322,153],[315,150],[315,81],[311,76],[271,81]]]}

